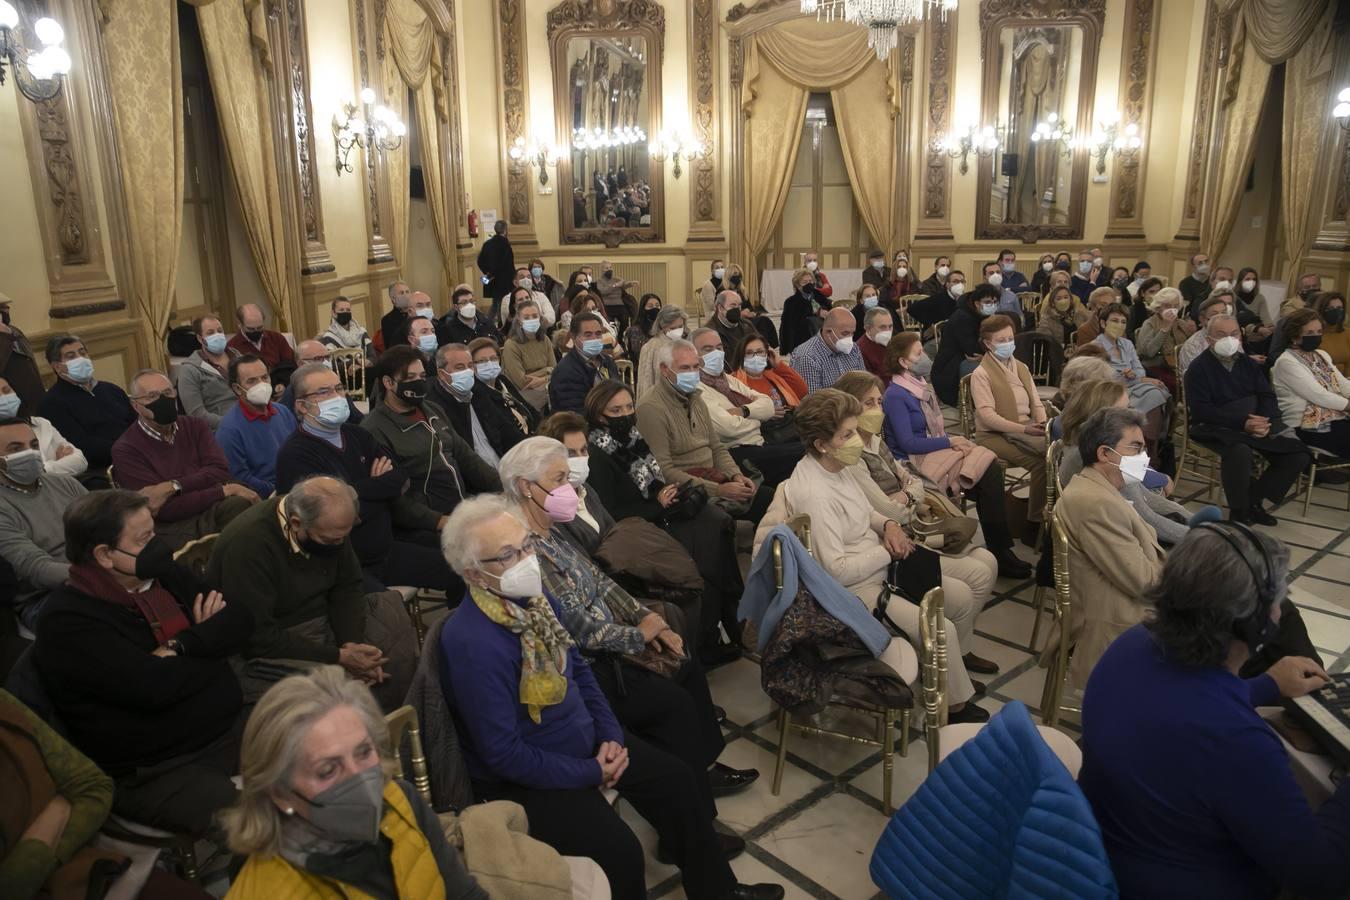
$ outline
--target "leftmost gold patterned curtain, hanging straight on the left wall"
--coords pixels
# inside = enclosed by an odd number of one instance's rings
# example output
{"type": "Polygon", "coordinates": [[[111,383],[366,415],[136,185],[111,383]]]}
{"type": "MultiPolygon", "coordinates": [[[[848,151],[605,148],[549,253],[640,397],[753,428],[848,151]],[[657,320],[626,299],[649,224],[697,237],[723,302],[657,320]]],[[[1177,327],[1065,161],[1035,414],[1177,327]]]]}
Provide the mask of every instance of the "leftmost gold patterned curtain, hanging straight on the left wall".
{"type": "Polygon", "coordinates": [[[163,0],[104,0],[100,13],[127,205],[131,273],[123,289],[154,359],[163,354],[182,235],[178,18],[163,0]]]}

